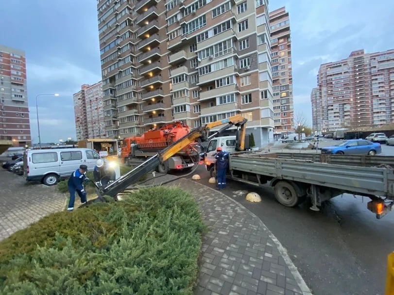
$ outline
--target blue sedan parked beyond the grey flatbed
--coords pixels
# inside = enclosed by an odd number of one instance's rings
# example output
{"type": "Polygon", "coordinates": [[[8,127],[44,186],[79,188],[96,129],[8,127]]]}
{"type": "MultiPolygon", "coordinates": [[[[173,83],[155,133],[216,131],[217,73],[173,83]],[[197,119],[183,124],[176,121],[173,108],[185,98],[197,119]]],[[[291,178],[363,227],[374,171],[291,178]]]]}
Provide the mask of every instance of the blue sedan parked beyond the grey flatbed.
{"type": "Polygon", "coordinates": [[[382,152],[379,143],[373,143],[365,139],[350,139],[338,146],[325,147],[321,149],[322,154],[337,155],[370,155],[374,156],[382,152]]]}

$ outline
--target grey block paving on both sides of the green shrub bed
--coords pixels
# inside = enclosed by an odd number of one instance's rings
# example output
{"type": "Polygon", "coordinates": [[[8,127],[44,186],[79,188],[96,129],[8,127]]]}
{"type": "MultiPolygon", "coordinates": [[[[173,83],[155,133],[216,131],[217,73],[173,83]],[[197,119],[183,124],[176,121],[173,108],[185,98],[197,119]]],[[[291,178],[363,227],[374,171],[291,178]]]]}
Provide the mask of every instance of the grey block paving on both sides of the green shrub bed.
{"type": "MultiPolygon", "coordinates": [[[[171,178],[166,175],[156,183],[171,178]]],[[[67,196],[56,186],[28,183],[3,169],[0,184],[0,240],[66,206],[67,196]]],[[[256,215],[199,181],[182,178],[167,185],[195,197],[209,229],[195,295],[311,294],[286,250],[256,215]]]]}

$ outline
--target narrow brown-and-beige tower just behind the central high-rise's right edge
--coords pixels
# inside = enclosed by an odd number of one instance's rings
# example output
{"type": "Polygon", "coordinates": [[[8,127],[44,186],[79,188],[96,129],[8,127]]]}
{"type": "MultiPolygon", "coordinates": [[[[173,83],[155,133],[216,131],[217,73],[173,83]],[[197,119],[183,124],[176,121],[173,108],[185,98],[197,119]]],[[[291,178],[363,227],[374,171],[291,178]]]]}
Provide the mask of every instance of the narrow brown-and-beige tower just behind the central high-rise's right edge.
{"type": "Polygon", "coordinates": [[[289,12],[281,7],[270,12],[271,63],[274,94],[274,136],[293,130],[293,78],[289,12]]]}

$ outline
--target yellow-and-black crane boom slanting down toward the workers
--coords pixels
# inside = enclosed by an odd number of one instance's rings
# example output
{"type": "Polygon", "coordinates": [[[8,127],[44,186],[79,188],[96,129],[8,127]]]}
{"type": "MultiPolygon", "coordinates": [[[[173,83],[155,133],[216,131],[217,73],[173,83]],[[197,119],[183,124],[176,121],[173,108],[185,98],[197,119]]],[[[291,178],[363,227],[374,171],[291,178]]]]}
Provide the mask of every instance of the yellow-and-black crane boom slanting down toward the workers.
{"type": "Polygon", "coordinates": [[[135,184],[138,179],[147,174],[148,172],[154,170],[158,165],[165,163],[168,159],[170,159],[173,155],[178,153],[180,150],[188,147],[190,144],[194,142],[204,142],[208,140],[210,137],[215,136],[218,133],[221,133],[233,126],[236,126],[239,129],[239,143],[237,144],[237,148],[242,150],[244,148],[244,139],[246,133],[246,123],[247,119],[242,117],[241,115],[231,116],[229,118],[208,123],[204,126],[200,126],[188,132],[188,134],[179,138],[177,141],[173,142],[167,148],[164,148],[158,151],[154,156],[148,158],[145,162],[135,167],[133,170],[129,171],[125,175],[121,176],[119,179],[113,181],[106,187],[99,187],[97,193],[99,197],[108,195],[111,197],[115,197],[118,193],[124,191],[128,186],[135,184]],[[218,127],[220,125],[226,124],[220,130],[214,132],[212,135],[209,135],[209,132],[212,128],[218,127]]]}

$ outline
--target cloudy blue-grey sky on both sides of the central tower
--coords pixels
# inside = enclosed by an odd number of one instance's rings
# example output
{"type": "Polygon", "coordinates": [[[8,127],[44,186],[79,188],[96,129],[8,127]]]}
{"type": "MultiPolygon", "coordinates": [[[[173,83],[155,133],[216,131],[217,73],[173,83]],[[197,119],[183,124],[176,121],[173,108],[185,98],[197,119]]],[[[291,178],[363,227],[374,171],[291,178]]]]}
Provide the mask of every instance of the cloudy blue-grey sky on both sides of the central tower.
{"type": "MultiPolygon", "coordinates": [[[[271,0],[270,10],[290,13],[295,112],[311,124],[310,91],[323,63],[351,51],[394,48],[394,2],[390,0],[271,0]]],[[[101,80],[94,0],[3,0],[0,44],[25,50],[33,142],[76,138],[72,94],[101,80]]]]}

